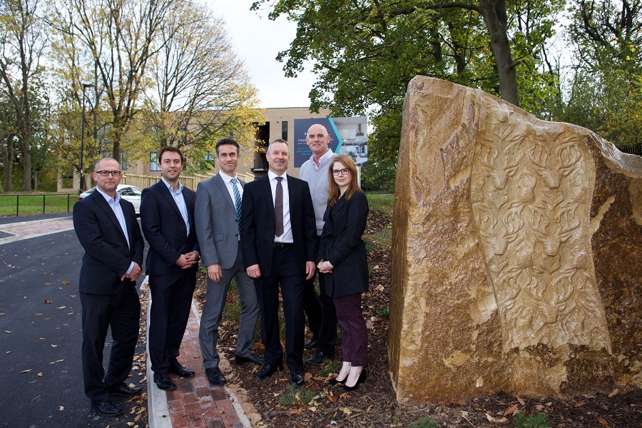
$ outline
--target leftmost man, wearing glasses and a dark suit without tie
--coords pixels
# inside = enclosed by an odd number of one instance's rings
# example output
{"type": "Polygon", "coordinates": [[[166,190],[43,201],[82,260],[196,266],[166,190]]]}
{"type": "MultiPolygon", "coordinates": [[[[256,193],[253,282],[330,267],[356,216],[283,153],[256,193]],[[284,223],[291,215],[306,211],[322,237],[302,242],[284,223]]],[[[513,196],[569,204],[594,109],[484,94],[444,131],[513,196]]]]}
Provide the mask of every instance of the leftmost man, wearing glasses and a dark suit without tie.
{"type": "Polygon", "coordinates": [[[83,381],[91,405],[101,414],[123,411],[109,394],[136,395],[141,387],[124,381],[133,363],[141,303],[136,278],[141,275],[145,241],[133,205],[116,188],[121,168],[103,158],[93,171],[96,190],[73,205],[73,228],[85,250],[79,280],[83,324],[83,381]],[[103,348],[111,327],[113,346],[107,372],[103,348]]]}

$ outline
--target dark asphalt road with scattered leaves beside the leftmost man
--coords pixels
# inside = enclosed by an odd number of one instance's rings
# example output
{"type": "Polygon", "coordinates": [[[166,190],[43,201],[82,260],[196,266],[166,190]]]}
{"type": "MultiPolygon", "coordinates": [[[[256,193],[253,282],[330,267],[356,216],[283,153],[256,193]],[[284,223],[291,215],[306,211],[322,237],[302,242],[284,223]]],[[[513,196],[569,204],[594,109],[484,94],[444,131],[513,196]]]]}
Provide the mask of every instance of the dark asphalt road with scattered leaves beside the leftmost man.
{"type": "MultiPolygon", "coordinates": [[[[83,392],[82,255],[73,230],[0,245],[0,427],[104,428],[133,421],[133,400],[113,396],[125,414],[103,417],[83,392]]],[[[106,360],[108,352],[109,345],[106,360]]],[[[132,374],[129,382],[139,384],[136,367],[132,374]]]]}

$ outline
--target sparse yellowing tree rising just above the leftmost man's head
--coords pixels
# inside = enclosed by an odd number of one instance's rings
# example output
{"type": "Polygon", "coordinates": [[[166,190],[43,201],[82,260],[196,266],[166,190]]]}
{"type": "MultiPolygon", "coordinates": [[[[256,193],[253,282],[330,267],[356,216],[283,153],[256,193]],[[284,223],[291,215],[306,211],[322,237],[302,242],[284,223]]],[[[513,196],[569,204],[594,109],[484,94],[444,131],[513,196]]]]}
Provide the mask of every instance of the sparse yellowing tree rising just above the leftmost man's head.
{"type": "Polygon", "coordinates": [[[96,86],[111,112],[109,139],[116,159],[140,108],[148,61],[162,47],[155,44],[156,36],[163,26],[172,25],[166,17],[177,4],[180,1],[60,0],[57,4],[52,21],[62,31],[59,43],[68,51],[83,49],[93,63],[90,73],[96,73],[96,86]]]}

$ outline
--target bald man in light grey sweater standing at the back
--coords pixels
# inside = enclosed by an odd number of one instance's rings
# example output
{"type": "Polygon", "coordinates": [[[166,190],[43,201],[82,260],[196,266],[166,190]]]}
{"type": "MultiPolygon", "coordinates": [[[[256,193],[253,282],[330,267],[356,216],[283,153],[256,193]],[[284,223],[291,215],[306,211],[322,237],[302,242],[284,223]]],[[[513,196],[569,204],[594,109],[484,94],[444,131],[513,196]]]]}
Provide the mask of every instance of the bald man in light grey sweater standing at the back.
{"type": "MultiPolygon", "coordinates": [[[[335,153],[327,147],[330,135],[325,126],[314,124],[307,130],[307,146],[312,151],[310,159],[301,165],[299,178],[310,185],[312,204],[315,206],[317,235],[323,230],[323,214],[327,207],[327,193],[330,185],[327,181],[327,170],[330,168],[335,153]]],[[[316,275],[316,273],[315,273],[316,275]]],[[[322,275],[319,275],[320,295],[315,292],[315,277],[305,283],[303,290],[303,309],[307,323],[312,331],[312,339],[305,343],[307,349],[317,347],[317,352],[305,360],[306,364],[320,364],[327,358],[335,356],[337,344],[337,313],[332,297],[325,292],[322,275]]]]}

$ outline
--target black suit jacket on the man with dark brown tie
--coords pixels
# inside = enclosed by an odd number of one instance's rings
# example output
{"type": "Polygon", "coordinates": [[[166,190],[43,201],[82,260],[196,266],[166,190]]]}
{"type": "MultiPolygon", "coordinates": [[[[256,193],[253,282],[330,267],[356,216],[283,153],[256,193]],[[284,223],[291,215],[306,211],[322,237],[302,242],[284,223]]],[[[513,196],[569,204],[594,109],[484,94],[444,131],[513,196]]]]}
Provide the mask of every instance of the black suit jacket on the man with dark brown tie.
{"type": "MultiPolygon", "coordinates": [[[[290,198],[290,225],[297,264],[305,272],[305,262],[315,261],[317,226],[307,182],[287,175],[290,198]]],[[[241,248],[245,267],[258,264],[261,276],[270,276],[275,234],[274,202],[267,174],[243,188],[241,248]]]]}

